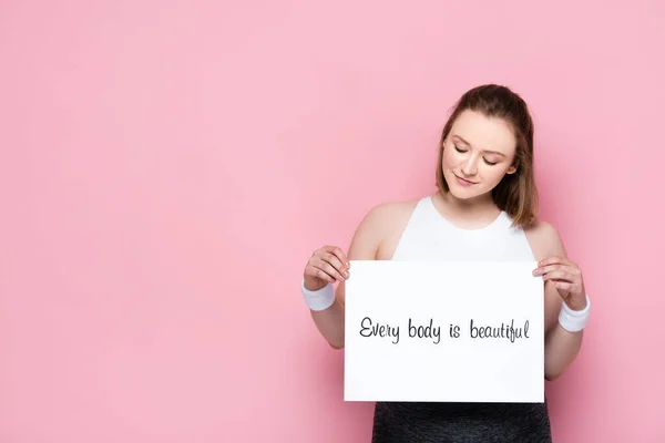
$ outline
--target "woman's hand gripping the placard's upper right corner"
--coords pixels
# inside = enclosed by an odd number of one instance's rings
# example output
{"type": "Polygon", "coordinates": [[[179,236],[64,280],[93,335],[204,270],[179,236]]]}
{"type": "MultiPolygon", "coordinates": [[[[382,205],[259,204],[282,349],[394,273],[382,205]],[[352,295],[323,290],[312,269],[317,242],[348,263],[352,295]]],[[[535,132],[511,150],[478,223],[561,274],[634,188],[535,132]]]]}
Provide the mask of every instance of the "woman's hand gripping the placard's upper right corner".
{"type": "Polygon", "coordinates": [[[548,257],[538,264],[534,276],[543,276],[543,280],[552,281],[563,301],[573,310],[586,307],[586,289],[582,271],[571,260],[564,257],[548,257]]]}

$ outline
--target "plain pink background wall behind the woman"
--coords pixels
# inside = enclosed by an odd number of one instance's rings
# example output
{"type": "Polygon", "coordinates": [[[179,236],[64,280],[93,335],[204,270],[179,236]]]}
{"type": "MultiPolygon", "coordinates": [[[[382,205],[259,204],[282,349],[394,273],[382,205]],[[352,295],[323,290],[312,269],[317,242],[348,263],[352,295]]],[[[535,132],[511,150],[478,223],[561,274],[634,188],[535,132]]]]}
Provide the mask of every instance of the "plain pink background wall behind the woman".
{"type": "Polygon", "coordinates": [[[2,1],[0,441],[369,441],[301,270],[484,82],[594,300],[555,441],[665,441],[665,7],[580,4],[2,1]]]}

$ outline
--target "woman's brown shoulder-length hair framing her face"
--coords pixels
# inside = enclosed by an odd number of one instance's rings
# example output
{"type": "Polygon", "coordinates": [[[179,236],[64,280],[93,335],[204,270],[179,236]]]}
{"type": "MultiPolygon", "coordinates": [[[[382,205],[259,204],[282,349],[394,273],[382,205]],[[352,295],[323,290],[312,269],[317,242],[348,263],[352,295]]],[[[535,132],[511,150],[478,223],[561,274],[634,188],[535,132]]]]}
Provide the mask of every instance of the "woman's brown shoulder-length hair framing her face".
{"type": "Polygon", "coordinates": [[[539,197],[533,173],[533,121],[529,106],[520,95],[507,86],[485,84],[466,92],[453,106],[441,133],[439,161],[437,164],[437,186],[442,193],[450,188],[443,177],[443,144],[457,117],[466,110],[480,112],[488,117],[504,120],[513,130],[516,138],[513,165],[518,169],[505,174],[492,189],[494,204],[513,219],[512,226],[525,227],[538,217],[539,197]]]}

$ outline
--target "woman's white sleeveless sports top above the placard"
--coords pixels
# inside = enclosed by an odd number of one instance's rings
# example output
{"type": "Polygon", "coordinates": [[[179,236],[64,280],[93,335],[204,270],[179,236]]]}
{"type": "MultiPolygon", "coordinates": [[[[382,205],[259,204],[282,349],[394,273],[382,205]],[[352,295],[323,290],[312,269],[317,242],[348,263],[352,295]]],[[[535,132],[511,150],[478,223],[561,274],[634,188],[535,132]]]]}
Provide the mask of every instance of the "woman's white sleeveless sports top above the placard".
{"type": "Polygon", "coordinates": [[[501,212],[490,225],[464,229],[446,219],[432,197],[421,198],[399,239],[393,260],[534,260],[522,228],[501,212]]]}

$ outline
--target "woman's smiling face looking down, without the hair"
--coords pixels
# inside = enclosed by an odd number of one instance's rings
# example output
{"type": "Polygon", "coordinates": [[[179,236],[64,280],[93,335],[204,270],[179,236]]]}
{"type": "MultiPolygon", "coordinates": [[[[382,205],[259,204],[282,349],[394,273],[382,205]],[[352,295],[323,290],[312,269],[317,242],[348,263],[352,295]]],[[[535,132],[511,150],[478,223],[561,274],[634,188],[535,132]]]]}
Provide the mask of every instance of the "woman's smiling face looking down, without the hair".
{"type": "Polygon", "coordinates": [[[450,192],[469,199],[490,193],[505,174],[513,174],[515,137],[500,119],[462,112],[443,144],[443,177],[450,192]]]}

